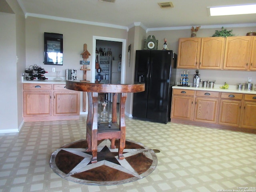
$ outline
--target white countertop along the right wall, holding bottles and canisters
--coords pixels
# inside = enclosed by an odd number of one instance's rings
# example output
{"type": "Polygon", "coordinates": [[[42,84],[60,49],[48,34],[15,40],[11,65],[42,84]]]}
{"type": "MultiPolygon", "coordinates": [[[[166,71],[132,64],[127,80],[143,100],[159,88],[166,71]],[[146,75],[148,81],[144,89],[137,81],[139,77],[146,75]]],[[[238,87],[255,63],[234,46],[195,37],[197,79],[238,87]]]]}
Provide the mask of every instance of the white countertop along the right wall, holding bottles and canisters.
{"type": "Polygon", "coordinates": [[[229,93],[246,93],[246,94],[256,94],[256,91],[254,90],[255,87],[252,88],[252,90],[244,90],[244,86],[242,90],[237,90],[236,85],[229,85],[228,89],[221,89],[220,86],[215,84],[214,88],[203,88],[203,87],[193,87],[193,86],[173,86],[173,89],[187,89],[187,90],[195,90],[195,91],[215,91],[215,92],[229,92],[229,93]]]}

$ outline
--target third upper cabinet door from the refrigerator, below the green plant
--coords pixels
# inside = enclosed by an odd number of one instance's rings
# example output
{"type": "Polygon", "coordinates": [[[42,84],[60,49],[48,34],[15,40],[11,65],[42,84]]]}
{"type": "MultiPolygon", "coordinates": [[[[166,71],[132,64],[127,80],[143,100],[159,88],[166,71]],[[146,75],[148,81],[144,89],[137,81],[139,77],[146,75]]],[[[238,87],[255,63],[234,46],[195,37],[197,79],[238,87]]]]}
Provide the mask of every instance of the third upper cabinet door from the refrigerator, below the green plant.
{"type": "Polygon", "coordinates": [[[247,70],[250,65],[251,41],[250,36],[226,38],[224,69],[247,70]]]}

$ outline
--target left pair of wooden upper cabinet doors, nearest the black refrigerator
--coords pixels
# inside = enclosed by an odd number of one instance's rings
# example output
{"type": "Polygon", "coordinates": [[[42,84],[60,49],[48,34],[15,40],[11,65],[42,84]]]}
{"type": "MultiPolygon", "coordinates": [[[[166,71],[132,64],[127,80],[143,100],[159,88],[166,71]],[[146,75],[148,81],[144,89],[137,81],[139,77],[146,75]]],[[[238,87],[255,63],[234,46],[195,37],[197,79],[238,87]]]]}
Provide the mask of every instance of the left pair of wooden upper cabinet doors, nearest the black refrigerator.
{"type": "Polygon", "coordinates": [[[178,68],[221,69],[225,38],[180,38],[178,68]]]}

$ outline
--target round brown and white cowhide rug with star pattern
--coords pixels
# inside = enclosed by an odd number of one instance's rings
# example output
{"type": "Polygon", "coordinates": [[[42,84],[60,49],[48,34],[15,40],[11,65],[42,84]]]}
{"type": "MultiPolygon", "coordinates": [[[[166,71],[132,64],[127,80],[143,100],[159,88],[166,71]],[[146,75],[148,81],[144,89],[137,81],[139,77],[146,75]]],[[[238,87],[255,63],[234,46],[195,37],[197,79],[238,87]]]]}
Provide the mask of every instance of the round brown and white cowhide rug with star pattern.
{"type": "Polygon", "coordinates": [[[86,140],[78,140],[58,148],[52,153],[50,166],[66,180],[81,184],[118,185],[148,176],[157,165],[152,149],[140,143],[126,140],[124,160],[118,159],[116,149],[110,148],[110,140],[98,141],[98,162],[91,163],[92,153],[86,152],[86,140]]]}

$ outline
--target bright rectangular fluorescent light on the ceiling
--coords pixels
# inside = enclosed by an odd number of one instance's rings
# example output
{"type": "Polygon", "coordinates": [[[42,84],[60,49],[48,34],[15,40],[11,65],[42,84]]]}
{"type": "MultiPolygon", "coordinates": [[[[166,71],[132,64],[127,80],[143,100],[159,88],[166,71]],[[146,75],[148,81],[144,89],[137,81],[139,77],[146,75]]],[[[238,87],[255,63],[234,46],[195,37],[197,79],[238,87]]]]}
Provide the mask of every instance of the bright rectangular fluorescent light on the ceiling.
{"type": "Polygon", "coordinates": [[[208,7],[210,16],[241,15],[256,13],[256,4],[208,7]]]}

